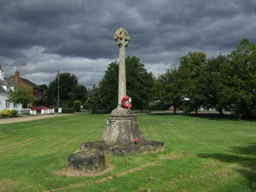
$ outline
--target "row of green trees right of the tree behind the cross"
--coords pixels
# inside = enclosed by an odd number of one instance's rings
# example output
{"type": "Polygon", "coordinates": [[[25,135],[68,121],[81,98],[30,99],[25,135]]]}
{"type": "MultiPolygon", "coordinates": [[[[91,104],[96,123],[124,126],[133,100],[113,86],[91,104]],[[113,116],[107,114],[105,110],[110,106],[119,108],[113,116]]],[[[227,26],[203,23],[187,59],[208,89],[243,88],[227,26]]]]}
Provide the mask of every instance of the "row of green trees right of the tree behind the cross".
{"type": "Polygon", "coordinates": [[[256,44],[244,38],[232,53],[209,59],[202,52],[189,52],[180,58],[177,69],[166,70],[155,84],[155,103],[181,106],[186,114],[197,113],[200,108],[215,108],[221,114],[223,110],[232,111],[240,118],[253,115],[256,113],[256,44]],[[181,69],[189,70],[190,74],[184,71],[187,77],[182,77],[181,69]],[[186,87],[185,91],[179,89],[179,84],[186,87]]]}

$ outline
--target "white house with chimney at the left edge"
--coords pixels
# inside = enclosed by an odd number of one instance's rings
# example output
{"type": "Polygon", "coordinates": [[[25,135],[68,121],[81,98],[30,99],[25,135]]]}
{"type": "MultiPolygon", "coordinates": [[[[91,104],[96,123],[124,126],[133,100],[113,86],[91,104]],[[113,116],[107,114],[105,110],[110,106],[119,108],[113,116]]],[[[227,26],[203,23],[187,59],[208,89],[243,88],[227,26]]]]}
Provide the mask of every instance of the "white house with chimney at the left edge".
{"type": "Polygon", "coordinates": [[[0,109],[21,108],[21,105],[11,103],[8,99],[9,92],[14,91],[16,84],[10,78],[5,78],[5,71],[0,66],[0,109]]]}

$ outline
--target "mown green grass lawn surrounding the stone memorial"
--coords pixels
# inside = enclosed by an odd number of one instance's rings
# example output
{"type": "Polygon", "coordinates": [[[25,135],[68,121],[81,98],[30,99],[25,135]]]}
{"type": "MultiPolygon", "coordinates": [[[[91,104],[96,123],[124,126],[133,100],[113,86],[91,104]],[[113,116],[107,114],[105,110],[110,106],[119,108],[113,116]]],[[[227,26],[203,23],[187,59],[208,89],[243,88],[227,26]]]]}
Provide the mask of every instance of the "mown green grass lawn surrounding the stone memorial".
{"type": "Polygon", "coordinates": [[[0,125],[0,191],[256,191],[256,121],[139,114],[146,140],[165,151],[106,155],[95,177],[54,175],[82,142],[100,140],[107,115],[0,125]]]}

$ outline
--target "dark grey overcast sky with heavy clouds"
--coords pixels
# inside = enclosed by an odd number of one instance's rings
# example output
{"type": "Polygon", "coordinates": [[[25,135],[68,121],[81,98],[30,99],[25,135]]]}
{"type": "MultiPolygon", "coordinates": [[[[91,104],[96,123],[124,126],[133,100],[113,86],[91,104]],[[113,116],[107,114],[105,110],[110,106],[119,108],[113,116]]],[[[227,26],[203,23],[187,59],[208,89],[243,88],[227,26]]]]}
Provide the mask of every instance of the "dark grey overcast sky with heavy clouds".
{"type": "Polygon", "coordinates": [[[189,51],[230,53],[256,43],[256,0],[0,0],[0,65],[5,77],[49,84],[70,72],[90,87],[118,60],[113,38],[125,28],[136,56],[156,77],[189,51]]]}

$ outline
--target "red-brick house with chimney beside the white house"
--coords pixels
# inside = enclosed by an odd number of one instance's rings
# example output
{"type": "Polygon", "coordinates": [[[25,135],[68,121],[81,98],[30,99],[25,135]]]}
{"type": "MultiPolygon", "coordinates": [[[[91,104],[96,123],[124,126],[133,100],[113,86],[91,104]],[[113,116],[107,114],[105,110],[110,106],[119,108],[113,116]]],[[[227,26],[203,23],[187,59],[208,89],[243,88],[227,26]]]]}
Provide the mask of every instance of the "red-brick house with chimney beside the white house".
{"type": "Polygon", "coordinates": [[[14,81],[14,83],[16,84],[17,88],[21,88],[21,87],[29,87],[33,89],[33,96],[35,98],[35,103],[30,103],[30,106],[33,105],[43,105],[45,102],[45,96],[46,96],[46,90],[43,88],[40,88],[39,86],[37,86],[35,83],[31,82],[28,79],[22,78],[19,76],[19,71],[16,70],[15,75],[10,76],[10,79],[12,79],[14,81]]]}

